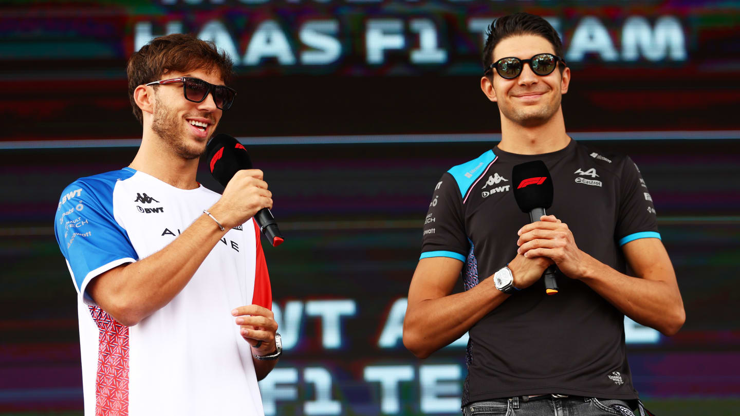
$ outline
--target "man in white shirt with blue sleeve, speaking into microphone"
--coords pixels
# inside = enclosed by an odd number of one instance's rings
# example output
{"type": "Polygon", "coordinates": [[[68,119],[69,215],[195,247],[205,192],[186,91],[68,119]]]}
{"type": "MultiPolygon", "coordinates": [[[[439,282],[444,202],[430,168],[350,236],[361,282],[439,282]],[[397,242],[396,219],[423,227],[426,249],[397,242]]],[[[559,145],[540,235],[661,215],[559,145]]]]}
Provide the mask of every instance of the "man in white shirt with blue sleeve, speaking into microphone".
{"type": "Polygon", "coordinates": [[[263,415],[257,382],[281,349],[252,216],[272,193],[260,170],[239,171],[223,195],[195,181],[235,98],[231,74],[229,58],[194,36],[142,47],[127,67],[138,153],[59,201],[87,415],[263,415]]]}

